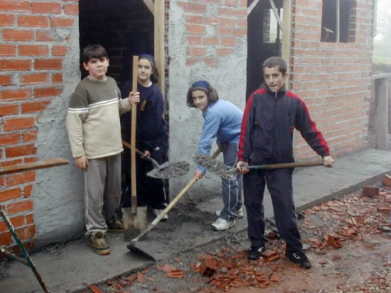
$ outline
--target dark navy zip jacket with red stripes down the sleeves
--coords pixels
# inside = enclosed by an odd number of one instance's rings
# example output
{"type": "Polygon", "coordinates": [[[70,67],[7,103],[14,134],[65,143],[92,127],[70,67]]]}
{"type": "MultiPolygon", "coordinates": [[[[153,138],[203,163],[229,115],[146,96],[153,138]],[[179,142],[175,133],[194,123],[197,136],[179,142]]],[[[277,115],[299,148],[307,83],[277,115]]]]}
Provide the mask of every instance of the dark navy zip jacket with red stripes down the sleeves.
{"type": "Polygon", "coordinates": [[[294,128],[318,155],[330,155],[326,140],[299,96],[285,87],[279,92],[271,92],[266,86],[258,89],[246,104],[238,160],[251,161],[251,165],[294,162],[294,128]]]}

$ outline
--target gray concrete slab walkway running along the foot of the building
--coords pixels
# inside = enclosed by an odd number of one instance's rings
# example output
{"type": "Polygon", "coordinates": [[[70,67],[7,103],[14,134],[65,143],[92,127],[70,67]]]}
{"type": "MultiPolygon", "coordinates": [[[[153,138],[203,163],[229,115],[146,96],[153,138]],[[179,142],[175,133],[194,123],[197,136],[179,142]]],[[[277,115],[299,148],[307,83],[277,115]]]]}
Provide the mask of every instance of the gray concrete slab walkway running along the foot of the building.
{"type": "MultiPolygon", "coordinates": [[[[322,200],[337,197],[365,184],[380,181],[390,172],[391,153],[381,150],[361,150],[337,157],[333,168],[309,167],[295,170],[294,196],[297,209],[306,209],[322,200]]],[[[140,241],[157,259],[163,259],[178,251],[191,250],[226,235],[212,231],[210,223],[216,218],[213,211],[221,209],[221,199],[210,199],[198,204],[193,211],[175,209],[169,213],[167,222],[159,223],[148,238],[140,241]],[[186,214],[186,216],[183,216],[186,214]]],[[[272,217],[272,203],[268,194],[264,200],[265,216],[272,217]]],[[[237,225],[228,233],[243,231],[246,217],[237,220],[237,225]]],[[[112,253],[96,255],[84,240],[58,249],[43,250],[31,255],[51,292],[77,292],[88,284],[99,283],[112,277],[125,275],[149,265],[149,260],[129,253],[119,234],[109,238],[112,253]]],[[[18,262],[0,267],[0,293],[42,292],[31,270],[18,262]]]]}

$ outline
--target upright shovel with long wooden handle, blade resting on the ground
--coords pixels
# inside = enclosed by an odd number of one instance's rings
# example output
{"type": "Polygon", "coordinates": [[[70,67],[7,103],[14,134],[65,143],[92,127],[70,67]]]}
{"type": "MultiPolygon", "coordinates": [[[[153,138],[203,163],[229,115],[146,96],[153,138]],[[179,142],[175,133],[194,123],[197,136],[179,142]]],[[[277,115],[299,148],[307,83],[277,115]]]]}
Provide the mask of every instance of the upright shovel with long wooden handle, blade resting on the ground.
{"type": "MultiPolygon", "coordinates": [[[[133,56],[133,79],[132,92],[137,92],[137,74],[139,57],[133,56]]],[[[131,124],[131,185],[132,185],[132,208],[122,208],[122,223],[124,224],[124,240],[132,239],[134,235],[146,228],[146,206],[137,206],[136,194],[136,115],[137,105],[132,103],[131,124]]]]}

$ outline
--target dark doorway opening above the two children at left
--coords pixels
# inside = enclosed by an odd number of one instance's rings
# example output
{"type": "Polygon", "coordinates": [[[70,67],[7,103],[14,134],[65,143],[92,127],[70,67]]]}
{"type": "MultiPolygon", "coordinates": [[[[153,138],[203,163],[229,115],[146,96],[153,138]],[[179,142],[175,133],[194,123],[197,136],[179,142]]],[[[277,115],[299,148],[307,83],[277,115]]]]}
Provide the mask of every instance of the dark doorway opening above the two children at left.
{"type": "MultiPolygon", "coordinates": [[[[107,75],[122,88],[132,78],[132,56],[154,55],[154,16],[143,0],[80,0],[80,55],[88,44],[109,54],[107,75]]],[[[87,75],[80,64],[82,78],[87,75]]]]}

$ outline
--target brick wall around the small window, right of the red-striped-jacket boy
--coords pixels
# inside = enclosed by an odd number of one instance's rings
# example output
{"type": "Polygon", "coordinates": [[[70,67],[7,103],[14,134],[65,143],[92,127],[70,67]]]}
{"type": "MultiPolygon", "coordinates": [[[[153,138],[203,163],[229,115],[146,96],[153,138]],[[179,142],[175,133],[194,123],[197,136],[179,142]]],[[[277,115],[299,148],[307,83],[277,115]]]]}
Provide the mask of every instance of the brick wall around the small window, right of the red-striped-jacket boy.
{"type": "MultiPolygon", "coordinates": [[[[323,43],[322,1],[294,0],[292,4],[291,88],[306,101],[333,155],[367,145],[372,11],[372,1],[357,0],[356,24],[350,24],[349,31],[354,43],[323,43]]],[[[300,135],[295,145],[297,159],[315,155],[300,135]]]]}

